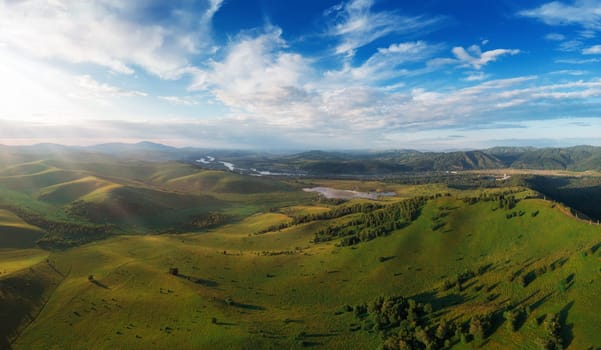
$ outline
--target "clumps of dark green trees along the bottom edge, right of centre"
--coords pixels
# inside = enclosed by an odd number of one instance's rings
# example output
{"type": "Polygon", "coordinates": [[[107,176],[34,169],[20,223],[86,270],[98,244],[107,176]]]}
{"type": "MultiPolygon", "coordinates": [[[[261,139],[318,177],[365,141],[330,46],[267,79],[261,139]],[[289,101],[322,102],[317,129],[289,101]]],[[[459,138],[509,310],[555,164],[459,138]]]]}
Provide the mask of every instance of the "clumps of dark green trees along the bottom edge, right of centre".
{"type": "MultiPolygon", "coordinates": [[[[351,323],[350,331],[378,331],[385,350],[450,349],[456,344],[483,344],[503,323],[509,332],[517,332],[530,315],[530,307],[509,304],[496,310],[472,315],[468,319],[449,321],[439,318],[431,304],[419,303],[402,296],[379,296],[369,303],[347,305],[359,323],[351,323]]],[[[537,321],[539,322],[539,321],[537,321]]],[[[540,323],[539,323],[540,324],[540,323]]],[[[562,322],[557,315],[547,315],[543,324],[544,349],[562,349],[562,322]]]]}

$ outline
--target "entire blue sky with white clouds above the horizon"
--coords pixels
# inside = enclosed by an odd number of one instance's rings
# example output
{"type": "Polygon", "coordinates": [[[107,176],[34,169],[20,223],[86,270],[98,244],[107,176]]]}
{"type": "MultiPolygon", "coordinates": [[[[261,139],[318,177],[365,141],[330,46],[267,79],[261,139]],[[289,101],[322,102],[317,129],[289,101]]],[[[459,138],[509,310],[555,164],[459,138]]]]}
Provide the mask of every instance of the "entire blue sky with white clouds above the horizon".
{"type": "Polygon", "coordinates": [[[0,144],[601,145],[601,0],[0,0],[0,144]]]}

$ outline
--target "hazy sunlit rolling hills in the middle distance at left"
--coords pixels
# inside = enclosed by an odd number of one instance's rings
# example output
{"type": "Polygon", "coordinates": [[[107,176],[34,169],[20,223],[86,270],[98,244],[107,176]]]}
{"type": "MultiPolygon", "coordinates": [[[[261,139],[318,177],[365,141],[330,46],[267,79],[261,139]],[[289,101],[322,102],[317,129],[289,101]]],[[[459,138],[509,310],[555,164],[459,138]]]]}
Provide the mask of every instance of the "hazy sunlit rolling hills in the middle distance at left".
{"type": "MultiPolygon", "coordinates": [[[[0,206],[46,231],[44,247],[62,248],[124,232],[206,230],[314,197],[286,181],[204,171],[184,163],[93,154],[32,161],[30,156],[10,164],[0,158],[0,206]]],[[[15,246],[7,237],[29,237],[23,247],[41,238],[31,230],[11,230],[15,234],[0,228],[0,247],[15,246]]]]}

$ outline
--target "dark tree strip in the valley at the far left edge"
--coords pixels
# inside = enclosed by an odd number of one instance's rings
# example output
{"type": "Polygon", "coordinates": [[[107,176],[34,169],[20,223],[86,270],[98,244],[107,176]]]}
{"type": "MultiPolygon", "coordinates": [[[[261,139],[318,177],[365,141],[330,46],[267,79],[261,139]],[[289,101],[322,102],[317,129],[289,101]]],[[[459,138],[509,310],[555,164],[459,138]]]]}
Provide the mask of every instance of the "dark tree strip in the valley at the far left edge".
{"type": "Polygon", "coordinates": [[[50,220],[16,206],[4,205],[2,208],[14,213],[26,223],[46,231],[46,235],[37,242],[38,246],[44,249],[63,249],[103,239],[113,234],[116,229],[114,225],[50,220]]]}

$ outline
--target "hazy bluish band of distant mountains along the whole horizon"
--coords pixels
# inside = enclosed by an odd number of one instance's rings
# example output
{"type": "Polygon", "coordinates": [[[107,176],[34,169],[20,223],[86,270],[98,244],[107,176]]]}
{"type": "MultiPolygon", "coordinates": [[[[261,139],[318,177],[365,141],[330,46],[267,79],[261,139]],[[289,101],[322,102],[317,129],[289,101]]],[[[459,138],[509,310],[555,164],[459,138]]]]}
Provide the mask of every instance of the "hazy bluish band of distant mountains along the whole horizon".
{"type": "MultiPolygon", "coordinates": [[[[274,154],[248,150],[175,148],[152,142],[135,144],[107,143],[89,147],[55,144],[3,146],[0,152],[20,158],[43,154],[69,157],[118,157],[142,161],[194,162],[212,156],[218,162],[231,162],[240,169],[303,173],[314,176],[389,175],[400,172],[457,171],[476,169],[601,170],[601,147],[568,148],[494,147],[484,150],[454,152],[320,151],[274,154]]],[[[199,165],[198,163],[196,163],[199,165]]],[[[219,164],[219,163],[216,163],[219,164]]]]}

